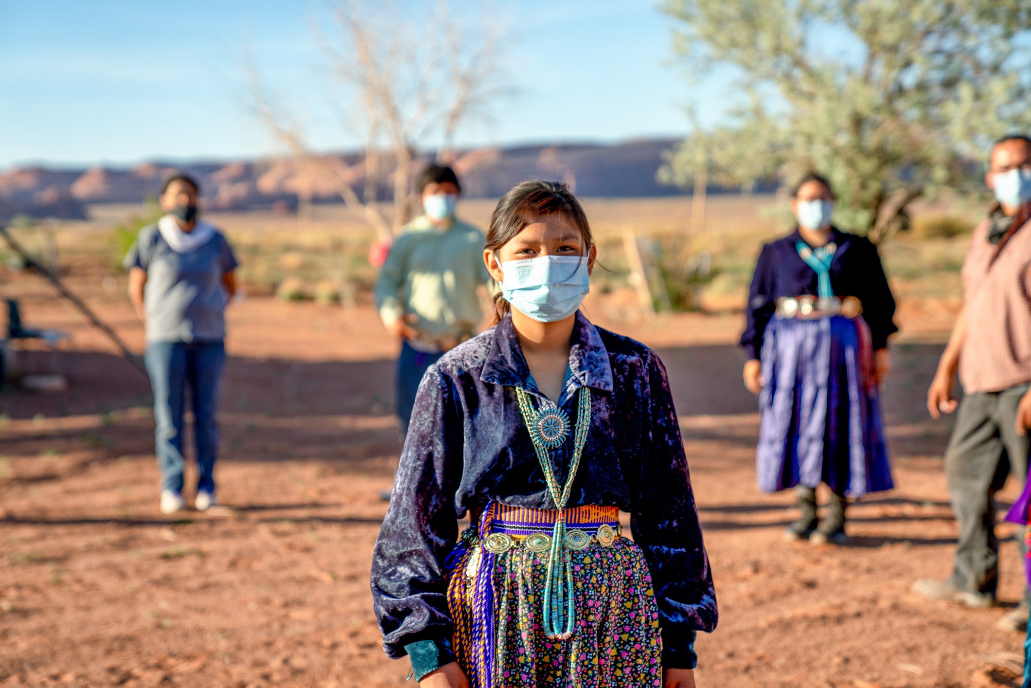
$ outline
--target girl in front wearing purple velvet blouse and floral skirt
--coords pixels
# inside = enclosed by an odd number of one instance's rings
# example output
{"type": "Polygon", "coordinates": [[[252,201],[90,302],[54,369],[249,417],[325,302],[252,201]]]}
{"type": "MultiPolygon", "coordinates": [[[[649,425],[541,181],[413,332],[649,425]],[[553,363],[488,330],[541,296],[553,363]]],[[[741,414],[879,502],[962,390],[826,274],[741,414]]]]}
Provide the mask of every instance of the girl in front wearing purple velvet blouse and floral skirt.
{"type": "Polygon", "coordinates": [[[484,252],[500,322],[423,378],[372,593],[424,686],[694,686],[717,604],[684,445],[655,353],[578,312],[595,255],[564,185],[517,186],[484,252]]]}

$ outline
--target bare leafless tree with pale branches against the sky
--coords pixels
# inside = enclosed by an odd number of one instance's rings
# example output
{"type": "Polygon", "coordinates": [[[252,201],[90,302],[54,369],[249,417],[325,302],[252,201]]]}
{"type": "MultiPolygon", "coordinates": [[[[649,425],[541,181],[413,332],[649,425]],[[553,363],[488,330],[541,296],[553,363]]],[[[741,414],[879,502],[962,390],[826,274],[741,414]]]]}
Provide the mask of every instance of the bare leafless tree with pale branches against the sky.
{"type": "Polygon", "coordinates": [[[339,100],[347,103],[351,138],[365,140],[363,159],[348,165],[313,151],[297,120],[268,94],[253,61],[250,104],[288,149],[299,176],[331,174],[346,205],[361,210],[380,239],[389,240],[409,220],[420,151],[436,141],[437,158],[450,160],[459,126],[489,117],[508,92],[505,31],[488,9],[460,19],[443,1],[335,0],[315,35],[330,59],[339,100]],[[384,179],[393,187],[390,218],[376,203],[384,179]],[[358,182],[364,185],[361,196],[358,182]]]}

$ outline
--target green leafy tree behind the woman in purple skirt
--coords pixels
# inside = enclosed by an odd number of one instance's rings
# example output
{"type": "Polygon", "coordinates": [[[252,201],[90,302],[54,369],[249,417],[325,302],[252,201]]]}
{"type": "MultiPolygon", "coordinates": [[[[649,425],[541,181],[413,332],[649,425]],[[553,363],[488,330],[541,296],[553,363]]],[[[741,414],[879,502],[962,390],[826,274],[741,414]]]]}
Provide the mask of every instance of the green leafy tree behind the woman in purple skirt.
{"type": "Polygon", "coordinates": [[[660,179],[749,190],[829,176],[835,222],[879,239],[907,206],[976,175],[991,141],[1031,124],[1027,0],[665,0],[693,73],[739,73],[752,105],[694,133],[660,179]],[[832,43],[832,44],[828,44],[832,43]]]}

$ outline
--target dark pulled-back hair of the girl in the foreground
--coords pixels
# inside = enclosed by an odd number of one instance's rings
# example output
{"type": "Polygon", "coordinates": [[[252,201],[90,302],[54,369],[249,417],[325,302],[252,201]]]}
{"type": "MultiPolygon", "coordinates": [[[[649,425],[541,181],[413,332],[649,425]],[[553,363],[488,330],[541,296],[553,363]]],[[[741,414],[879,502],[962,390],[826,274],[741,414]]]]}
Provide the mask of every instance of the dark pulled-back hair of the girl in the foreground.
{"type": "MultiPolygon", "coordinates": [[[[579,230],[584,245],[590,251],[594,244],[594,236],[584,206],[569,191],[569,187],[561,182],[543,179],[517,184],[501,197],[491,216],[491,228],[487,232],[487,244],[484,248],[497,252],[516,238],[527,225],[545,215],[561,215],[568,220],[570,225],[579,230]]],[[[494,296],[494,324],[501,322],[510,309],[508,301],[498,292],[494,296]]]]}

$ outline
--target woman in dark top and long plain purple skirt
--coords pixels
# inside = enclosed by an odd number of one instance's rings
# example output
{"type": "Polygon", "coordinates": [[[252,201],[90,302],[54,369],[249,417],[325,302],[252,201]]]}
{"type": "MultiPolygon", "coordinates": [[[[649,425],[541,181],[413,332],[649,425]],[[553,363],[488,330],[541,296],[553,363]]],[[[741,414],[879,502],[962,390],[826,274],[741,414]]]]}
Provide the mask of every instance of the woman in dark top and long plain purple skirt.
{"type": "Polygon", "coordinates": [[[767,492],[795,487],[786,538],[845,540],[845,496],[893,487],[877,385],[898,331],[877,249],[831,226],[834,193],[818,174],[792,193],[798,229],[763,247],[749,295],[744,384],[759,394],[756,467],[767,492]],[[820,483],[831,489],[819,524],[820,483]]]}

